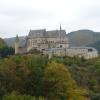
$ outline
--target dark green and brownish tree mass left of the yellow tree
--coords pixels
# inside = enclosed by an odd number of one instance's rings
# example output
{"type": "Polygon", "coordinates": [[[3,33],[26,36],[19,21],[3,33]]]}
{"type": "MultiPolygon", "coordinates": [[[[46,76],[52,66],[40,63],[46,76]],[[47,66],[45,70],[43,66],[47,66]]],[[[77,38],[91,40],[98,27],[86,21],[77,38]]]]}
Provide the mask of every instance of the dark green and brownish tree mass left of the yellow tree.
{"type": "Polygon", "coordinates": [[[1,87],[9,93],[16,90],[21,94],[42,95],[42,77],[47,59],[41,58],[36,55],[17,55],[2,59],[0,61],[1,87]]]}

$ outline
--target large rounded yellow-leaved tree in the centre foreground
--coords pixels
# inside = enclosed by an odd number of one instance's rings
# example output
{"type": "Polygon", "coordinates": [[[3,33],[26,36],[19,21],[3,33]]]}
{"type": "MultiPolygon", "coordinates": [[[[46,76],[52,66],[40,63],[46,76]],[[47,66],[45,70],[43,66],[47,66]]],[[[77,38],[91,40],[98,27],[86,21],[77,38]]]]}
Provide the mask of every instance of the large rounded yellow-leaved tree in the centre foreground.
{"type": "Polygon", "coordinates": [[[63,64],[48,63],[44,73],[44,95],[50,100],[85,100],[63,64]],[[81,99],[79,99],[81,98],[81,99]]]}

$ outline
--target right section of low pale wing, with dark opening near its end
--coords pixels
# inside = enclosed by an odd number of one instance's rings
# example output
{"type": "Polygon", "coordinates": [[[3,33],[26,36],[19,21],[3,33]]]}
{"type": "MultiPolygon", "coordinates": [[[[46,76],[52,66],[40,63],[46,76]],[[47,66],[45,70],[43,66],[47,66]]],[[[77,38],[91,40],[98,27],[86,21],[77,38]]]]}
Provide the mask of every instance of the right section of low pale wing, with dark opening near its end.
{"type": "Polygon", "coordinates": [[[66,55],[92,59],[98,57],[98,51],[93,47],[70,47],[66,49],[66,55]]]}

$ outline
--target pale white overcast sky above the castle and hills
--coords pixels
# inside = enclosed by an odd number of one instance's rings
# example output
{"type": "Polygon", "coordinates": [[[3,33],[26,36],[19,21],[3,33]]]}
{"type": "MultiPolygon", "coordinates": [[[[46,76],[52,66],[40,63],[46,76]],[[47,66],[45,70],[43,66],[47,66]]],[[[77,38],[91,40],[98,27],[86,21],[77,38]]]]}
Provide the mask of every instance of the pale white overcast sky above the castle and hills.
{"type": "Polygon", "coordinates": [[[66,33],[79,29],[100,32],[100,0],[0,0],[0,37],[27,35],[30,29],[66,33]]]}

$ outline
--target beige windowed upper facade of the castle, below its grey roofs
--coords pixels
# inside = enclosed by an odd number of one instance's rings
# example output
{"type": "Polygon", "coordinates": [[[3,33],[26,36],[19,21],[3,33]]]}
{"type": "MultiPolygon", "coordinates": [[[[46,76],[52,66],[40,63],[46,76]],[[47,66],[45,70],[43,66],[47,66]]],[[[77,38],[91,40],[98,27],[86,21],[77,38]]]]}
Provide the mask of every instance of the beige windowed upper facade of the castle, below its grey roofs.
{"type": "Polygon", "coordinates": [[[29,39],[28,50],[36,48],[38,50],[47,48],[66,48],[68,47],[68,39],[65,38],[32,38],[29,39]]]}

